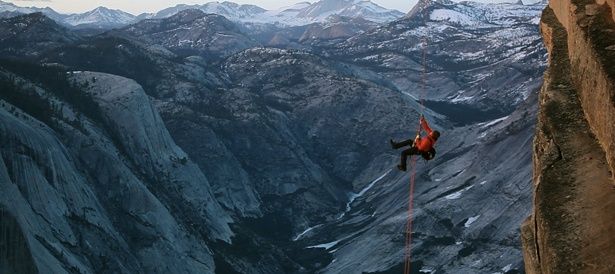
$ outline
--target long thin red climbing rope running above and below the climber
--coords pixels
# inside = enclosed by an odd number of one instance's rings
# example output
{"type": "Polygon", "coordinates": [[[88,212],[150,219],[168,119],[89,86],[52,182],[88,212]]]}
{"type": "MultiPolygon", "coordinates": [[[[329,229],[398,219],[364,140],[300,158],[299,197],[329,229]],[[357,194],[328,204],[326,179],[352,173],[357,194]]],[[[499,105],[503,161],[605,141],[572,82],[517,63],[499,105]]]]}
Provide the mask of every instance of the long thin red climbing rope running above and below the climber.
{"type": "MultiPolygon", "coordinates": [[[[421,12],[422,12],[422,19],[423,19],[423,26],[425,27],[425,32],[427,32],[428,28],[427,28],[427,20],[425,19],[427,14],[426,14],[426,10],[427,7],[429,7],[429,3],[431,2],[431,0],[419,0],[419,3],[423,3],[423,6],[421,7],[421,12]]],[[[424,98],[425,98],[425,93],[427,90],[427,34],[423,34],[423,38],[421,39],[421,44],[422,44],[422,48],[423,48],[423,70],[421,72],[421,96],[419,97],[419,103],[420,103],[420,116],[423,116],[423,112],[425,110],[425,104],[424,104],[424,98]]],[[[421,125],[419,122],[419,127],[417,130],[417,133],[420,134],[421,132],[421,125]]],[[[411,164],[412,164],[412,171],[411,171],[411,175],[410,175],[410,188],[409,188],[409,193],[408,193],[408,215],[407,215],[407,221],[406,221],[406,242],[405,242],[405,246],[404,246],[404,274],[410,274],[410,271],[412,270],[411,268],[411,264],[412,264],[412,219],[413,219],[413,211],[414,211],[414,181],[416,179],[416,162],[417,162],[417,156],[413,155],[412,156],[412,160],[411,160],[411,164]]]]}

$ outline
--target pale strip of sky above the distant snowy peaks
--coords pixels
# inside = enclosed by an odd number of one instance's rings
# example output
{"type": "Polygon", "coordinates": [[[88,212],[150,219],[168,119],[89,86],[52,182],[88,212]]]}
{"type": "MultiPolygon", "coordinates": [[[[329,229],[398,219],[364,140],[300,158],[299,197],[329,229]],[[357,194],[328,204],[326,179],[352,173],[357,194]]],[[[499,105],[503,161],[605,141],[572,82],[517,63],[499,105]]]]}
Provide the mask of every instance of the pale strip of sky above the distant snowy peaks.
{"type": "MultiPolygon", "coordinates": [[[[99,6],[112,9],[121,9],[134,15],[143,12],[157,12],[177,4],[204,4],[211,0],[2,0],[24,7],[51,7],[62,13],[81,13],[99,6]]],[[[224,0],[218,0],[220,2],[224,0]]],[[[253,4],[265,9],[273,10],[295,2],[316,2],[317,0],[231,0],[238,4],[253,4]]],[[[372,0],[372,2],[389,9],[408,12],[417,0],[372,0]]],[[[475,0],[479,2],[511,2],[512,0],[475,0]]]]}

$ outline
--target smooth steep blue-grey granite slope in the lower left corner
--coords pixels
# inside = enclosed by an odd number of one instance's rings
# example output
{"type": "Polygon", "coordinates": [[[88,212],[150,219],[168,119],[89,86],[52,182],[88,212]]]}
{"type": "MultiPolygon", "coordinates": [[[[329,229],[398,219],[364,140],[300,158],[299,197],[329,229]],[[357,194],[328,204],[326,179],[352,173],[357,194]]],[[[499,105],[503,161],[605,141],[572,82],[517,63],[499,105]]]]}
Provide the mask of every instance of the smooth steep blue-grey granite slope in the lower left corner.
{"type": "Polygon", "coordinates": [[[2,63],[2,242],[20,241],[19,252],[31,256],[24,266],[3,253],[3,267],[213,271],[203,242],[230,241],[231,219],[143,89],[113,75],[53,73],[2,63]],[[86,93],[71,93],[70,82],[86,93]]]}

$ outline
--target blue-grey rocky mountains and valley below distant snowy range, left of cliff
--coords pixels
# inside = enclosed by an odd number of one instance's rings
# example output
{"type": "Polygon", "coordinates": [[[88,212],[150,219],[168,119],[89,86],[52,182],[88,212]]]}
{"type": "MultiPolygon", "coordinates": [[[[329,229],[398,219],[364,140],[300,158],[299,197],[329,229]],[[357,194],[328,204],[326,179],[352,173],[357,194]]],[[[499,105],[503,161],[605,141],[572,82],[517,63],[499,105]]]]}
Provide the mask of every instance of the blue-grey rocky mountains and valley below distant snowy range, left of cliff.
{"type": "Polygon", "coordinates": [[[424,115],[413,272],[522,273],[543,8],[0,19],[0,272],[398,273],[424,115]]]}

